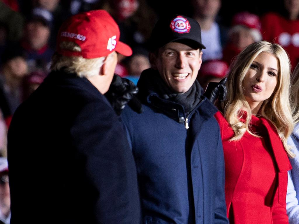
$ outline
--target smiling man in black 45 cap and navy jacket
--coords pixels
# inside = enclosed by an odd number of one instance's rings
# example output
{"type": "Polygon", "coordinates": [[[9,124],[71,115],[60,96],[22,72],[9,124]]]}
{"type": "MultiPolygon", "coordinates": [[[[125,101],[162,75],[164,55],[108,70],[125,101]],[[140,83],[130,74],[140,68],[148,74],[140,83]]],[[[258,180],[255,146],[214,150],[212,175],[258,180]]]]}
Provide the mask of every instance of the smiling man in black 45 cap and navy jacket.
{"type": "Polygon", "coordinates": [[[228,223],[217,109],[196,80],[202,64],[199,24],[183,15],[158,21],[151,68],[137,86],[143,113],[122,119],[135,157],[143,223],[228,223]]]}

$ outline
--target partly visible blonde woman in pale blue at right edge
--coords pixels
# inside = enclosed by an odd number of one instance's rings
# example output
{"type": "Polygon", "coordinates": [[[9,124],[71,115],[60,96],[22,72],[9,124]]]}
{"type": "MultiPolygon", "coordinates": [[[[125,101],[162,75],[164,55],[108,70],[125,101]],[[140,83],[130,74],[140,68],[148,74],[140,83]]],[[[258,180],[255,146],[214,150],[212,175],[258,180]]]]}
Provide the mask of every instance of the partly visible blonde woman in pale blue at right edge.
{"type": "Polygon", "coordinates": [[[294,131],[288,139],[292,151],[296,155],[290,159],[292,170],[288,172],[288,191],[286,194],[286,211],[289,216],[290,224],[299,223],[299,64],[291,77],[292,83],[292,111],[295,123],[294,131]]]}

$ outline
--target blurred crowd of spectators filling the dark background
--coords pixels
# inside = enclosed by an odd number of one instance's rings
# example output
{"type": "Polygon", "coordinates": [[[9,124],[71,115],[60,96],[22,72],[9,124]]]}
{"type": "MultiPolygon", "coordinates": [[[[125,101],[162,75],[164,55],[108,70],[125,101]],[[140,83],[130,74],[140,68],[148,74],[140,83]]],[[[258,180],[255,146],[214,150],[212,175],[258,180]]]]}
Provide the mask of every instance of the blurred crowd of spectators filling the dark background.
{"type": "MultiPolygon", "coordinates": [[[[204,89],[208,82],[223,79],[234,57],[260,40],[282,45],[294,68],[299,62],[299,0],[239,4],[189,0],[184,4],[165,1],[162,7],[159,1],[150,0],[0,0],[0,156],[6,157],[12,114],[49,72],[60,25],[82,11],[105,9],[117,21],[120,40],[132,47],[133,55],[119,54],[115,73],[135,84],[141,72],[150,67],[152,28],[167,13],[185,14],[201,26],[206,49],[197,79],[204,89]]],[[[2,215],[8,216],[0,212],[0,219],[2,215]]]]}

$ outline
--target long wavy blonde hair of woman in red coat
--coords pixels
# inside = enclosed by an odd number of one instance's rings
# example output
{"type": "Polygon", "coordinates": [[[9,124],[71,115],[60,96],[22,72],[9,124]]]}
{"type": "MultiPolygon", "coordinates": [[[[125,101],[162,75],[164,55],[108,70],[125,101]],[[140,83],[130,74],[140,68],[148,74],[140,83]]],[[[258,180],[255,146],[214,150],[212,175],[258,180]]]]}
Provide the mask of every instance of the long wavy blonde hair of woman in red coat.
{"type": "Polygon", "coordinates": [[[228,96],[222,105],[225,118],[234,130],[234,137],[231,141],[239,140],[244,133],[257,136],[253,133],[249,124],[251,121],[251,109],[245,99],[242,82],[245,78],[254,59],[262,52],[273,54],[278,60],[277,85],[261,108],[260,115],[268,119],[276,127],[280,139],[290,157],[294,154],[287,145],[287,138],[293,131],[292,111],[290,107],[289,87],[290,87],[290,61],[286,51],[279,45],[267,41],[255,42],[246,47],[234,60],[228,73],[228,96]],[[245,107],[247,111],[246,122],[240,121],[240,110],[245,107]]]}

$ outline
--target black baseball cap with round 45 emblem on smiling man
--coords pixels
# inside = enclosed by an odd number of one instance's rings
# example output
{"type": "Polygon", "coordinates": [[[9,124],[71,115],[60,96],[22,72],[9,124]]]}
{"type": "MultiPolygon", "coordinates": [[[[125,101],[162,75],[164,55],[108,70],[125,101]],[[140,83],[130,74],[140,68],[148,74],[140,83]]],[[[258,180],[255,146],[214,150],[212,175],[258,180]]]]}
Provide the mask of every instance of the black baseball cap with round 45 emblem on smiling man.
{"type": "Polygon", "coordinates": [[[180,42],[197,49],[205,49],[202,44],[200,25],[195,19],[183,15],[173,15],[159,19],[149,39],[150,50],[154,51],[170,42],[180,42]]]}

